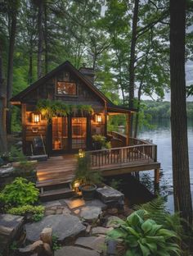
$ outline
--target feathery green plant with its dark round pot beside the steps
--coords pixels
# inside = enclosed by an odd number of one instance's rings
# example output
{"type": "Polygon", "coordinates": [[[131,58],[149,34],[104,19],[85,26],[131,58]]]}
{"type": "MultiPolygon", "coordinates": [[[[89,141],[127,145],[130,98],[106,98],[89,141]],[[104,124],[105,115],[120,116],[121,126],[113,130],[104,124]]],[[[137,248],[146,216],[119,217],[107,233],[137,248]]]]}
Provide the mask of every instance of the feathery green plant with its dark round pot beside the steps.
{"type": "Polygon", "coordinates": [[[79,190],[82,191],[83,199],[93,199],[97,184],[101,182],[101,173],[91,170],[91,158],[89,153],[78,157],[77,167],[75,170],[74,183],[79,182],[79,190]]]}

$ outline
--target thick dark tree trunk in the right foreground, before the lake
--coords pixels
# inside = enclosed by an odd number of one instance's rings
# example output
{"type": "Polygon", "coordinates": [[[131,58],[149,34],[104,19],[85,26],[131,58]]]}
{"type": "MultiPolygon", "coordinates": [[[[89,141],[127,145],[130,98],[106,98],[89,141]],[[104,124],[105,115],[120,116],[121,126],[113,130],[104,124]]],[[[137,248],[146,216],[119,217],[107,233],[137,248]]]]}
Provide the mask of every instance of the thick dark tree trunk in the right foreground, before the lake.
{"type": "Polygon", "coordinates": [[[186,80],[186,1],[170,0],[171,130],[173,149],[173,196],[176,211],[192,223],[188,160],[186,80]]]}

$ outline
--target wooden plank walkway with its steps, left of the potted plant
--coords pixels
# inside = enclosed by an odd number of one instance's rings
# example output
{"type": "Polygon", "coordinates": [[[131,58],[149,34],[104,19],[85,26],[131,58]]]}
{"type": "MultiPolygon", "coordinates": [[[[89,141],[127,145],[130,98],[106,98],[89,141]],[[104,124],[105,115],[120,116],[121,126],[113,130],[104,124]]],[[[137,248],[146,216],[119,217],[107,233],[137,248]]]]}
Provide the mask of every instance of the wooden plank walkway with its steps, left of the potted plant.
{"type": "Polygon", "coordinates": [[[43,201],[68,198],[74,195],[71,182],[76,159],[72,155],[49,158],[38,162],[36,187],[43,201]]]}

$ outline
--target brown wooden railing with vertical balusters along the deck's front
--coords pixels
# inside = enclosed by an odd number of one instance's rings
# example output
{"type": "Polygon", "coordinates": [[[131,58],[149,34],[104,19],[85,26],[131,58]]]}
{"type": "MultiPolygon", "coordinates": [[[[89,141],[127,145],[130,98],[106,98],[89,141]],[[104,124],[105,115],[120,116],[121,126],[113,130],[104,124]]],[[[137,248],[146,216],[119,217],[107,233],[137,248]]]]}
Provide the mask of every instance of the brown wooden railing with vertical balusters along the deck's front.
{"type": "Polygon", "coordinates": [[[102,149],[89,152],[92,158],[92,167],[107,165],[122,165],[127,162],[157,161],[157,146],[155,144],[139,144],[123,148],[102,149]]]}

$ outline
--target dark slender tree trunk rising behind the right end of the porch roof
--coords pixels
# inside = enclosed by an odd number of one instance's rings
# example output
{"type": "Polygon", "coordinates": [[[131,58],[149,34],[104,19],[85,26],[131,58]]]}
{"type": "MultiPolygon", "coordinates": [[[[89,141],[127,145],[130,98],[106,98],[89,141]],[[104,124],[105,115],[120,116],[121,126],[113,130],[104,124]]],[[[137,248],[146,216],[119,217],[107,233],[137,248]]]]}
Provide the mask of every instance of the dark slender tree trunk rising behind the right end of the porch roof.
{"type": "MultiPolygon", "coordinates": [[[[138,8],[139,8],[139,0],[135,0],[135,6],[132,17],[132,42],[131,42],[131,52],[130,52],[130,62],[129,62],[129,102],[128,107],[133,107],[133,99],[134,99],[134,82],[135,82],[135,73],[134,73],[134,65],[135,65],[135,48],[136,48],[136,39],[137,39],[137,18],[138,18],[138,8]]],[[[130,126],[130,135],[132,135],[132,118],[131,118],[131,126],[130,126]]]]}

